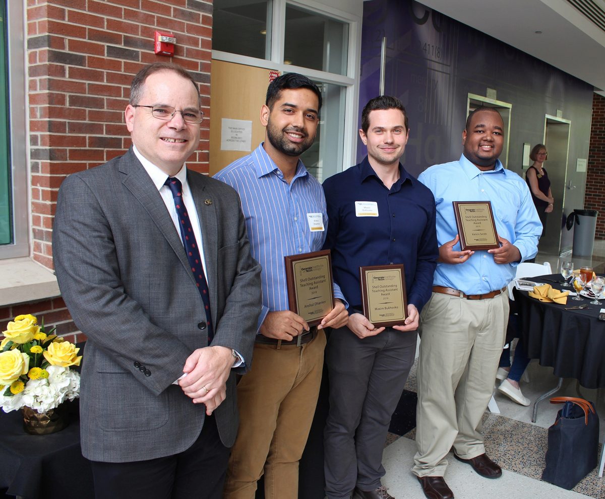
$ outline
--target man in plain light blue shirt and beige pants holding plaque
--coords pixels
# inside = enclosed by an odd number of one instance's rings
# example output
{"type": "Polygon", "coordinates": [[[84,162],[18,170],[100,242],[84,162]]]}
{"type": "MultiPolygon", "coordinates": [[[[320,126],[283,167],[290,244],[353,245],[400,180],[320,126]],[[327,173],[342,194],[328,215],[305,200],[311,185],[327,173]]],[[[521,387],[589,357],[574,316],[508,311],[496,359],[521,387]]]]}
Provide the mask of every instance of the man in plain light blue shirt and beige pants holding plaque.
{"type": "Polygon", "coordinates": [[[451,499],[445,459],[486,478],[502,475],[485,454],[481,417],[491,398],[508,323],[506,285],[515,266],[537,253],[542,226],[526,183],[503,168],[503,121],[492,108],[473,111],[459,161],[430,167],[419,181],[437,206],[439,260],[424,307],[418,363],[417,453],[412,471],[427,497],[451,499]],[[490,201],[500,247],[460,251],[453,201],[490,201]]]}

